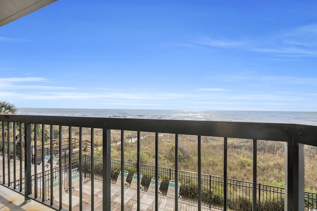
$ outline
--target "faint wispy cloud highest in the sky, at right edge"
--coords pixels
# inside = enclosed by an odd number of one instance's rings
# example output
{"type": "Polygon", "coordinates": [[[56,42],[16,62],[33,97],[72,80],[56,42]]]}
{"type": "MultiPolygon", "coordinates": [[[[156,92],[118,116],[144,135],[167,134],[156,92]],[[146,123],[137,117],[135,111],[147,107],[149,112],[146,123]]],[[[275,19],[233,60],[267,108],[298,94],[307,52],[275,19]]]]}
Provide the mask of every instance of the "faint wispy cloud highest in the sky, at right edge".
{"type": "MultiPolygon", "coordinates": [[[[271,54],[271,56],[274,57],[317,57],[317,24],[281,31],[271,36],[248,38],[243,41],[200,37],[193,43],[194,45],[207,47],[236,48],[243,51],[254,51],[271,54]]],[[[188,44],[188,46],[191,45],[192,43],[188,44]]]]}

